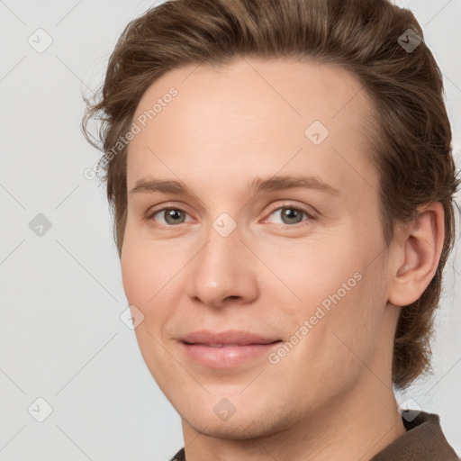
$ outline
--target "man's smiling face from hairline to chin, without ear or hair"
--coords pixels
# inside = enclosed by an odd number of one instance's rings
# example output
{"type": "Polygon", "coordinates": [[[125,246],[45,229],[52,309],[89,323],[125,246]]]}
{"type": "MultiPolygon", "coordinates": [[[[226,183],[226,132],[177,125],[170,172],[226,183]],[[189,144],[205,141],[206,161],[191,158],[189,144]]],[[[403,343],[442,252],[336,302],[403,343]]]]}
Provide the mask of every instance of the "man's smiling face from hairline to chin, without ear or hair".
{"type": "Polygon", "coordinates": [[[340,68],[239,59],[175,69],[143,95],[122,279],[144,316],[142,356],[186,429],[256,437],[392,386],[398,312],[360,90],[340,68]]]}

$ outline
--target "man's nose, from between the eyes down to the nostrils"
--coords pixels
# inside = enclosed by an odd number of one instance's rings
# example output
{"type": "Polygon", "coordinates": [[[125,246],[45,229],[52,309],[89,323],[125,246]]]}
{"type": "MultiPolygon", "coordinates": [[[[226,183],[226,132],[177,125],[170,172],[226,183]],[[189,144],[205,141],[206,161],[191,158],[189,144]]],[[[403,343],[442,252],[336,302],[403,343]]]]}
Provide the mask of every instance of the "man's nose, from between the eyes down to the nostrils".
{"type": "Polygon", "coordinates": [[[206,237],[187,265],[188,296],[212,307],[251,303],[258,297],[258,261],[239,227],[225,237],[211,228],[206,237]]]}

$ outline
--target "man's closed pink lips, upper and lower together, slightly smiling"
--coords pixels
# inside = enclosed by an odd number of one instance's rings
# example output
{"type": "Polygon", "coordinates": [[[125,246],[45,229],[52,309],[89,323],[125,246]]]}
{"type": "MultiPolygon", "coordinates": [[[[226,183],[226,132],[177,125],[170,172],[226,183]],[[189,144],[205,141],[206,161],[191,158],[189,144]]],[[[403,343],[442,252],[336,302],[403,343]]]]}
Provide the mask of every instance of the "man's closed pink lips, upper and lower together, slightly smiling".
{"type": "Polygon", "coordinates": [[[179,338],[185,356],[199,365],[232,368],[266,355],[281,339],[269,338],[242,330],[194,331],[179,338]]]}

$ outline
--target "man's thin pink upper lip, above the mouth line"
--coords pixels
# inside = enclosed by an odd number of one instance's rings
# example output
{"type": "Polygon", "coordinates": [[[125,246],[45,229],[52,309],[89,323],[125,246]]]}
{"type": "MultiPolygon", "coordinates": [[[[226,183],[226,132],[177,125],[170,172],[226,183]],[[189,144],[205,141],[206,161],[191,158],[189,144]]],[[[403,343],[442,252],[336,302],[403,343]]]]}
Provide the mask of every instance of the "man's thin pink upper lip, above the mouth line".
{"type": "Polygon", "coordinates": [[[249,344],[270,344],[280,339],[269,338],[242,330],[226,330],[221,332],[198,330],[181,336],[179,340],[189,344],[235,344],[238,346],[248,346],[249,344]]]}

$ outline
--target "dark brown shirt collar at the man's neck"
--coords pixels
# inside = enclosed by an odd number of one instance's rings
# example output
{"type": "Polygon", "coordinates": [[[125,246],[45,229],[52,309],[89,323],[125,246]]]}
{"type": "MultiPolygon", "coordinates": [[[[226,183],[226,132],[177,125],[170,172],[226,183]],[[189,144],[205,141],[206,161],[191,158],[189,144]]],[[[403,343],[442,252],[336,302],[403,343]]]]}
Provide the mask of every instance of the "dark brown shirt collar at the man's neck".
{"type": "MultiPolygon", "coordinates": [[[[410,419],[410,418],[407,418],[410,419]]],[[[401,437],[369,461],[459,461],[440,427],[438,414],[420,411],[411,421],[402,417],[407,429],[401,437]]],[[[170,461],[185,461],[184,447],[170,461]]]]}

